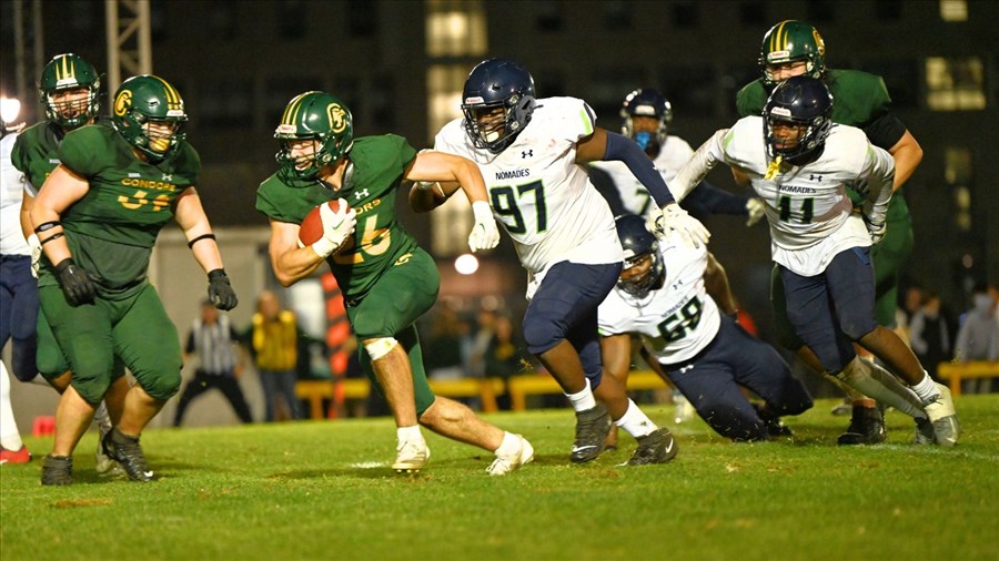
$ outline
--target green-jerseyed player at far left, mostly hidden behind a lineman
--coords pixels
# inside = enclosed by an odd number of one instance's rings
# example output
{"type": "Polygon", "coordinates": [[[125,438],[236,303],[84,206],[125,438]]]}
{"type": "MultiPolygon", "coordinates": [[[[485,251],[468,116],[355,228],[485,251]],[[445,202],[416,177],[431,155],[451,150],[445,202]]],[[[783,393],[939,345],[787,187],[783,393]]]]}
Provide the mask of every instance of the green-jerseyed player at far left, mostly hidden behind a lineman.
{"type": "MultiPolygon", "coordinates": [[[[100,110],[101,76],[97,70],[82,57],[73,53],[57,54],[46,64],[39,81],[39,95],[46,108],[46,120],[28,128],[13,147],[12,162],[14,167],[24,173],[27,184],[21,197],[21,230],[32,247],[32,257],[37,261],[41,254],[38,245],[38,236],[34,235],[29,214],[38,196],[38,190],[46,182],[46,177],[59,165],[59,145],[70,131],[98,121],[100,110]]],[[[37,267],[37,264],[32,264],[37,267]]],[[[22,273],[29,276],[37,273],[22,273]]],[[[34,292],[34,300],[38,302],[38,283],[31,278],[30,289],[34,292]]],[[[69,363],[59,348],[52,328],[46,320],[44,314],[38,313],[38,305],[26,309],[26,317],[19,318],[24,325],[33,325],[31,350],[31,368],[22,368],[18,373],[19,379],[28,381],[37,374],[48,381],[60,394],[70,384],[69,363]],[[37,350],[36,350],[37,349],[37,350]]],[[[129,381],[123,376],[124,366],[120,360],[114,363],[115,382],[108,391],[104,404],[98,409],[94,422],[100,429],[101,436],[111,430],[112,419],[121,416],[124,406],[124,397],[129,391],[129,381]]],[[[104,455],[103,446],[98,442],[94,458],[97,471],[101,475],[120,473],[114,460],[104,455]]]]}

